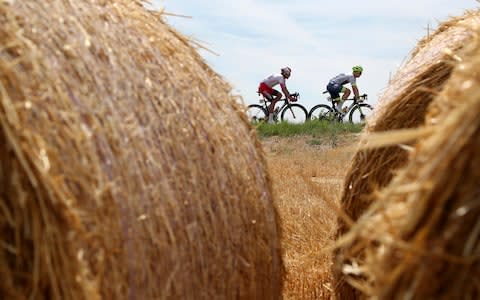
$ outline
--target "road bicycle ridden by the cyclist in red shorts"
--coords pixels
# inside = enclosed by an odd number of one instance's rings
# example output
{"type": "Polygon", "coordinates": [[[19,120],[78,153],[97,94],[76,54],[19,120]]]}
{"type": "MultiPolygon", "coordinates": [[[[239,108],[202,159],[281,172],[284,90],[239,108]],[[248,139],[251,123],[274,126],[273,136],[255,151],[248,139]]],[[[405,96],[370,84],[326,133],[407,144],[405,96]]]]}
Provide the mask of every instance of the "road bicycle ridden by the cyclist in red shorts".
{"type": "MultiPolygon", "coordinates": [[[[247,117],[252,123],[268,121],[268,106],[270,104],[270,99],[261,93],[258,93],[258,95],[262,96],[259,100],[260,104],[250,104],[247,106],[247,117]]],[[[293,93],[290,95],[296,100],[300,97],[299,93],[293,93]]],[[[290,102],[288,98],[280,99],[276,106],[277,107],[273,111],[273,120],[275,123],[281,120],[282,122],[288,122],[291,124],[301,124],[308,120],[307,109],[301,104],[290,102]],[[278,105],[280,103],[281,105],[278,105]]]]}

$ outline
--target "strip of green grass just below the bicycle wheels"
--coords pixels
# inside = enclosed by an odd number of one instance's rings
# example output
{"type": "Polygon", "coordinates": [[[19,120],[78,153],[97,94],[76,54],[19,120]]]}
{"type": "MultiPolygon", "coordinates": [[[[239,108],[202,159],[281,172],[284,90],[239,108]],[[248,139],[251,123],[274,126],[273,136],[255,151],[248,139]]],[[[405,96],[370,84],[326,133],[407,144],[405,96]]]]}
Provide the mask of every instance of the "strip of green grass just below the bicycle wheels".
{"type": "MultiPolygon", "coordinates": [[[[312,137],[336,136],[342,133],[358,133],[362,131],[363,124],[338,123],[329,121],[310,121],[303,124],[277,123],[267,124],[260,123],[257,125],[257,132],[260,138],[270,136],[295,136],[310,135],[312,137]]],[[[314,140],[312,141],[314,143],[314,140]]]]}

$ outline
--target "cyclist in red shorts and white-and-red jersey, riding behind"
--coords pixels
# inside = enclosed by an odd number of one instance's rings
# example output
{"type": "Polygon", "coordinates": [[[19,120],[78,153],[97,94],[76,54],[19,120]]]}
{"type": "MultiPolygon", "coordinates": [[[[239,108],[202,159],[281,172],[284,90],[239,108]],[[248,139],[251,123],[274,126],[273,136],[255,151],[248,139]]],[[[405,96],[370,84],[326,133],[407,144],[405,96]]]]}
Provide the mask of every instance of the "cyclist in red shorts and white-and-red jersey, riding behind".
{"type": "Polygon", "coordinates": [[[258,86],[258,92],[261,93],[268,101],[270,105],[268,106],[268,123],[273,123],[273,110],[275,104],[282,98],[282,93],[275,90],[273,87],[277,84],[280,84],[280,87],[285,94],[285,98],[294,102],[297,101],[294,97],[290,95],[290,92],[287,89],[286,80],[290,78],[292,69],[289,67],[284,67],[280,70],[280,75],[270,75],[258,86]]]}

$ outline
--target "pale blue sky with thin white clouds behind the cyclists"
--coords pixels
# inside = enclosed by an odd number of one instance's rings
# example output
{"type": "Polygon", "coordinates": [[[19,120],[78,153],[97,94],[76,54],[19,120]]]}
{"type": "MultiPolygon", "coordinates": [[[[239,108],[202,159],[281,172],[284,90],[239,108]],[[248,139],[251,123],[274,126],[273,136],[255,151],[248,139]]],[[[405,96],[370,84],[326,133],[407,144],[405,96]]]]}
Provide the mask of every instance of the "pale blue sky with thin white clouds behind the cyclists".
{"type": "Polygon", "coordinates": [[[325,103],[325,85],[353,65],[375,104],[417,42],[450,16],[475,9],[475,0],[154,0],[156,9],[191,18],[166,21],[209,51],[207,63],[245,104],[256,103],[258,83],[292,68],[290,92],[307,109],[325,103]]]}

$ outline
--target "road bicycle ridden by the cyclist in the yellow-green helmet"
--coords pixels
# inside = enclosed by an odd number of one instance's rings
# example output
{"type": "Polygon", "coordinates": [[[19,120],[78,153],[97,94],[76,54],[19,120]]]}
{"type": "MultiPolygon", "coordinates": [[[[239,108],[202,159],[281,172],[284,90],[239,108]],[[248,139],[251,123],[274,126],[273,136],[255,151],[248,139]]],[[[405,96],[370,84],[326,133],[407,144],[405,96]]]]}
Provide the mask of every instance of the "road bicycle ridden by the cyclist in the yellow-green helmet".
{"type": "MultiPolygon", "coordinates": [[[[324,94],[327,92],[323,92],[324,94]]],[[[346,99],[344,102],[343,111],[338,111],[336,108],[337,102],[332,101],[330,96],[327,97],[327,100],[331,103],[330,106],[326,104],[318,104],[312,107],[308,113],[310,120],[327,120],[327,121],[336,121],[343,122],[344,118],[348,115],[348,121],[350,123],[364,124],[368,116],[373,111],[373,106],[367,101],[367,94],[360,96],[358,100],[354,98],[346,99]],[[350,105],[347,105],[347,101],[353,101],[350,105]]]]}

